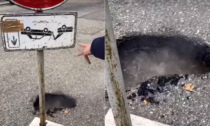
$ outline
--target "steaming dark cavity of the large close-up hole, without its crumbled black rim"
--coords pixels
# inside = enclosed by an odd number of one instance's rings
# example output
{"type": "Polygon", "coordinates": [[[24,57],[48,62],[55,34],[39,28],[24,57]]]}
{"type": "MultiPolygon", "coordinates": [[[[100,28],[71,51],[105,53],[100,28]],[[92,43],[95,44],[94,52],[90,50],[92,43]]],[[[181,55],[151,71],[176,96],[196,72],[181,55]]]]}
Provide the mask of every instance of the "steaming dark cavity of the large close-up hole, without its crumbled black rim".
{"type": "Polygon", "coordinates": [[[118,41],[125,87],[154,76],[209,72],[210,48],[185,36],[131,36],[118,41]]]}

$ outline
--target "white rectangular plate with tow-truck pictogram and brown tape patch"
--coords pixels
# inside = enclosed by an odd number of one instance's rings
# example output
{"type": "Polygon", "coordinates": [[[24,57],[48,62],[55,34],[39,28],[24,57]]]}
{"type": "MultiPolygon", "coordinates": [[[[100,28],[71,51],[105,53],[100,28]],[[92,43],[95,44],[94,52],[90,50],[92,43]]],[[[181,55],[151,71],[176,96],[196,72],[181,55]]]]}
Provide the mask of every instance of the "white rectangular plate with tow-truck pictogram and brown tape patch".
{"type": "Polygon", "coordinates": [[[77,13],[4,15],[1,32],[6,51],[72,48],[77,13]]]}

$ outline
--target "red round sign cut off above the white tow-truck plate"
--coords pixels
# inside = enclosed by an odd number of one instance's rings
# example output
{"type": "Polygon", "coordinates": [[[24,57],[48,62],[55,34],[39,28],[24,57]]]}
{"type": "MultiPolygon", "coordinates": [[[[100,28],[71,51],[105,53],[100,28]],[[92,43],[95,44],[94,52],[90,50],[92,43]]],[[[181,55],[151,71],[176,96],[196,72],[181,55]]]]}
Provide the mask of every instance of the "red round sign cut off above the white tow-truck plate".
{"type": "Polygon", "coordinates": [[[67,0],[11,0],[13,3],[32,10],[46,10],[55,8],[67,0]]]}

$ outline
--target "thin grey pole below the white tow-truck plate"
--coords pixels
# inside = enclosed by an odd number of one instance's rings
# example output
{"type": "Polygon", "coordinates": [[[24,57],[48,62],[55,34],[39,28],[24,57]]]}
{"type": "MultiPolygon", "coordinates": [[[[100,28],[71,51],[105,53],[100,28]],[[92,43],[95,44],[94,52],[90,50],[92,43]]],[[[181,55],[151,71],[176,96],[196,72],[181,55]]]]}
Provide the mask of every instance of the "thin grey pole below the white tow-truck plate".
{"type": "Polygon", "coordinates": [[[38,70],[39,70],[39,110],[40,126],[46,126],[45,123],[45,83],[44,83],[44,51],[37,51],[38,70]]]}

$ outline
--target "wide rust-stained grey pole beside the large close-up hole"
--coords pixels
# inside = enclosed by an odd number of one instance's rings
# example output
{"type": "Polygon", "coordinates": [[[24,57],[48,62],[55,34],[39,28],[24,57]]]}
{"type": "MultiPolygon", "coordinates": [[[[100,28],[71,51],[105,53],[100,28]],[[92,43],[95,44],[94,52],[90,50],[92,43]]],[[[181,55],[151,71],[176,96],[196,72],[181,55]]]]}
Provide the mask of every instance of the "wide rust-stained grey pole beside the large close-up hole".
{"type": "Polygon", "coordinates": [[[130,113],[127,109],[124,80],[107,0],[105,49],[106,87],[115,124],[116,126],[132,126],[130,113]]]}

